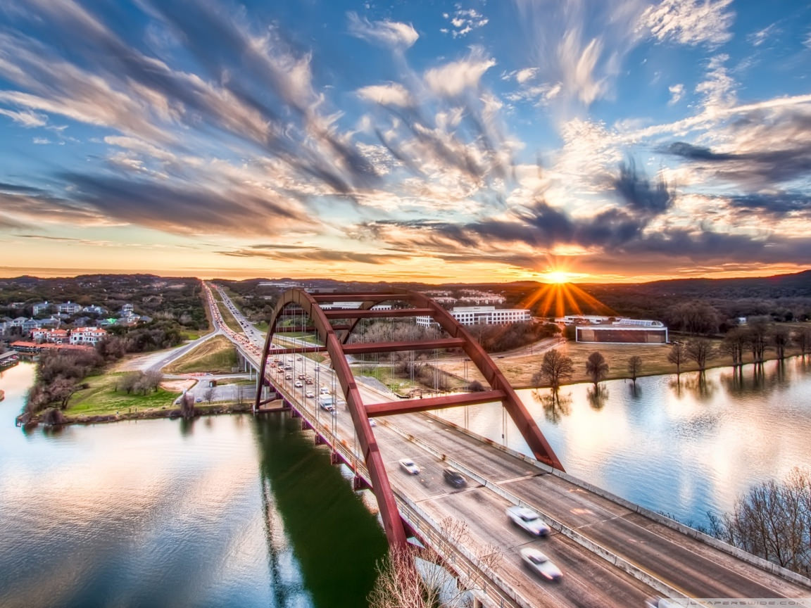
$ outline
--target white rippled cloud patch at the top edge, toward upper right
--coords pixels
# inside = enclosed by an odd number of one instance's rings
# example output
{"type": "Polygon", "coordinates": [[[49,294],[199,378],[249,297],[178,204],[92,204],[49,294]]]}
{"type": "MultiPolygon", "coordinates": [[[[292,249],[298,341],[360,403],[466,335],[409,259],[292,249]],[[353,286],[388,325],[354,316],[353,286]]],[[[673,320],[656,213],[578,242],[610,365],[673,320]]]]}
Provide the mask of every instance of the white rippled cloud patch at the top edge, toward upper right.
{"type": "Polygon", "coordinates": [[[662,0],[649,6],[637,24],[656,40],[680,45],[718,46],[732,40],[732,0],[662,0]]]}

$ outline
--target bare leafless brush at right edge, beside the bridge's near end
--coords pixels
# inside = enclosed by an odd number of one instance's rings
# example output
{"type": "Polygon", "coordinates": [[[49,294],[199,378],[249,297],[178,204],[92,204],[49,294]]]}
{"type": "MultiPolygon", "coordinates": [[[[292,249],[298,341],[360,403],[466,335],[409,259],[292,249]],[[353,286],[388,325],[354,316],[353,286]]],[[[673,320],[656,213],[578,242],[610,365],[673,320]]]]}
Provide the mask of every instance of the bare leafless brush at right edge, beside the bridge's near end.
{"type": "Polygon", "coordinates": [[[780,566],[811,572],[811,470],[793,469],[782,482],[762,482],[739,498],[732,513],[710,519],[710,531],[780,566]]]}

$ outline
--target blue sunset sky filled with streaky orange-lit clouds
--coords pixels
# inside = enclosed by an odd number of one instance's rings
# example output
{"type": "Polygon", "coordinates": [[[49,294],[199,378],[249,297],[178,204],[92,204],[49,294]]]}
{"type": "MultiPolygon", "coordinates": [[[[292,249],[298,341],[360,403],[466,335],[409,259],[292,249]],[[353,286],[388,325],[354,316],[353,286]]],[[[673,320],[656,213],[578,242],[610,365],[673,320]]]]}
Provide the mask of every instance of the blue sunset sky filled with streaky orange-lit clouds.
{"type": "Polygon", "coordinates": [[[811,266],[811,2],[0,2],[0,276],[811,266]]]}

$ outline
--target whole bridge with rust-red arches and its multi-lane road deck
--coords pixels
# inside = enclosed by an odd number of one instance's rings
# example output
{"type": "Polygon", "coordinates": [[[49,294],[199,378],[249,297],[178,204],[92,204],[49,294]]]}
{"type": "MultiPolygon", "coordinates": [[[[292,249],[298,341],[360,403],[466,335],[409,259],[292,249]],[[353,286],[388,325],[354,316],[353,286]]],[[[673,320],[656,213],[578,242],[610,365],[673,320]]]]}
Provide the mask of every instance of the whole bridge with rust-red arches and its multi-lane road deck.
{"type": "Polygon", "coordinates": [[[484,606],[644,606],[654,596],[811,596],[805,577],[565,473],[487,353],[423,294],[293,290],[281,297],[267,337],[260,340],[230,298],[215,288],[247,333],[228,328],[204,285],[218,327],[234,342],[245,366],[257,371],[255,407],[281,399],[302,418],[303,428],[314,431],[316,443],[328,445],[333,462],[354,472],[354,487],[372,490],[389,543],[401,546],[407,537],[418,537],[484,606]],[[324,302],[359,304],[324,310],[324,302]],[[416,315],[433,319],[445,336],[419,343],[350,341],[360,319],[416,315]],[[489,387],[403,400],[359,383],[350,368],[350,358],[358,355],[436,349],[462,349],[489,387]],[[328,364],[316,362],[316,356],[328,357],[328,364]],[[299,376],[314,383],[300,382],[299,376]],[[316,404],[320,387],[342,396],[335,413],[316,404]],[[490,402],[501,402],[534,458],[431,414],[490,402]],[[371,426],[372,419],[380,423],[371,426]],[[399,460],[406,457],[418,463],[421,474],[401,469],[399,460]],[[466,477],[466,488],[444,485],[448,466],[466,477]],[[551,525],[551,535],[534,539],[509,526],[504,510],[511,505],[539,512],[551,525]],[[450,532],[449,521],[466,523],[464,537],[450,532]],[[543,584],[522,566],[518,550],[525,546],[543,550],[563,570],[560,584],[543,584]]]}

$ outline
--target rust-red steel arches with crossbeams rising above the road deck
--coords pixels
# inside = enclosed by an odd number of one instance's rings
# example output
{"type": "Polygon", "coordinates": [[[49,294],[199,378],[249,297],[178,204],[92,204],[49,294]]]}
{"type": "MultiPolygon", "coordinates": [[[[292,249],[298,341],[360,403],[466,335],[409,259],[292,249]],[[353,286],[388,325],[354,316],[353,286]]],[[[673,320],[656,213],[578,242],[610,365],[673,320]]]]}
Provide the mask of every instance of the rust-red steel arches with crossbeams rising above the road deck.
{"type": "Polygon", "coordinates": [[[535,458],[556,469],[563,470],[555,452],[552,451],[547,439],[535,424],[526,407],[518,399],[513,387],[498,369],[496,364],[478,345],[473,336],[453,318],[447,310],[428,298],[423,293],[391,289],[380,293],[307,293],[303,289],[291,289],[282,294],[268,328],[268,336],[262,349],[260,363],[260,383],[256,392],[255,408],[261,404],[263,387],[268,385],[267,366],[268,358],[277,354],[286,353],[315,353],[329,354],[341,392],[350,410],[354,429],[358,435],[358,443],[363,452],[369,477],[371,490],[375,493],[380,516],[388,542],[392,546],[405,545],[405,529],[403,528],[397,502],[394,498],[388,475],[384,468],[383,457],[375,440],[374,431],[369,424],[369,418],[388,416],[396,413],[422,412],[431,409],[453,408],[461,405],[478,405],[500,401],[515,422],[527,445],[535,458]],[[358,302],[358,308],[341,310],[322,310],[320,302],[358,302]],[[376,310],[373,306],[382,302],[402,302],[409,307],[376,310]],[[301,315],[306,320],[309,331],[315,331],[321,345],[307,346],[295,349],[277,349],[272,346],[272,340],[278,333],[287,328],[279,325],[279,321],[289,315],[290,310],[301,315]],[[349,344],[349,338],[354,332],[360,319],[392,319],[428,316],[436,322],[447,338],[436,340],[422,340],[418,342],[370,342],[349,344]],[[337,320],[339,323],[333,324],[337,320]],[[484,379],[489,383],[489,390],[482,392],[461,393],[452,396],[429,397],[420,399],[399,400],[364,404],[358,385],[350,370],[347,355],[363,353],[391,353],[395,351],[415,351],[434,349],[462,349],[470,361],[478,368],[484,379]]]}

